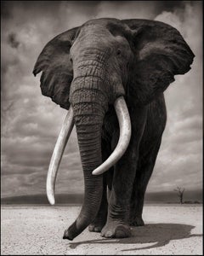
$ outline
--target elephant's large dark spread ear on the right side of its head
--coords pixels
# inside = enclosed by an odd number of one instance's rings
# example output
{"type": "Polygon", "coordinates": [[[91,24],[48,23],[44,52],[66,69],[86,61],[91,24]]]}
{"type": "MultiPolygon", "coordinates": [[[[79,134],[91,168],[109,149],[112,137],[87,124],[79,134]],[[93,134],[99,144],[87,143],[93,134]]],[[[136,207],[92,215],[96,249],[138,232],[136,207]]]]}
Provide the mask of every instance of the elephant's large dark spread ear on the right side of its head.
{"type": "Polygon", "coordinates": [[[153,20],[122,20],[129,28],[134,52],[133,85],[129,95],[147,104],[174,81],[174,75],[190,70],[194,54],[181,34],[153,20]]]}

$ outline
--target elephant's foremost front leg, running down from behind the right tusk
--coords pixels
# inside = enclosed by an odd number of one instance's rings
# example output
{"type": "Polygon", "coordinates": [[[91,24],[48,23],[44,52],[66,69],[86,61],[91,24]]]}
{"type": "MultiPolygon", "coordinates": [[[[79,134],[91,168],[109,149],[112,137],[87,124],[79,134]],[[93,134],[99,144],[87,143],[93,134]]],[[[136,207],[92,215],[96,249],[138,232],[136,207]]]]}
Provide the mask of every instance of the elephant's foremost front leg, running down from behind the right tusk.
{"type": "MultiPolygon", "coordinates": [[[[128,225],[130,199],[133,181],[139,156],[139,143],[144,132],[146,108],[129,111],[132,123],[132,136],[126,153],[116,163],[112,182],[111,196],[108,207],[108,217],[101,236],[128,237],[131,235],[128,225]],[[135,116],[138,119],[135,119],[135,116]]],[[[116,144],[118,134],[113,137],[116,144]]]]}

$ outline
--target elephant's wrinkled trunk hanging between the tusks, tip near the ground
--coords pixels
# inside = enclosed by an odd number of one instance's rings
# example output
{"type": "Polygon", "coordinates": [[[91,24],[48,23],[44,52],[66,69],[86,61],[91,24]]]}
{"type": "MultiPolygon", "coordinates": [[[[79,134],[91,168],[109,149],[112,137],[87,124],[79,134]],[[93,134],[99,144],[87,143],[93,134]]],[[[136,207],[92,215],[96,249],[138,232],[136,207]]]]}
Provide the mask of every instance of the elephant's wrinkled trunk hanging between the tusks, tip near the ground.
{"type": "Polygon", "coordinates": [[[90,89],[94,78],[85,79],[85,83],[82,82],[84,78],[76,80],[77,84],[72,84],[71,105],[77,128],[85,191],[82,210],[77,220],[65,231],[64,238],[69,240],[74,239],[93,222],[99,211],[103,177],[102,175],[94,176],[92,172],[102,163],[101,129],[108,106],[107,98],[101,91],[90,89]],[[83,86],[82,83],[84,83],[83,86]]]}

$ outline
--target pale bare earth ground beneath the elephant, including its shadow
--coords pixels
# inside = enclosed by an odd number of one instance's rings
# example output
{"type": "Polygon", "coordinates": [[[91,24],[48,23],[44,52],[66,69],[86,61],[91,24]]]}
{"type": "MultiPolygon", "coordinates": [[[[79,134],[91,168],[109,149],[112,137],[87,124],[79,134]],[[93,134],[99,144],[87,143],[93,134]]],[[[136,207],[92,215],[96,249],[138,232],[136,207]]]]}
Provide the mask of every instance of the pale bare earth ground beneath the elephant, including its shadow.
{"type": "Polygon", "coordinates": [[[3,206],[1,254],[202,255],[201,205],[145,205],[144,227],[133,236],[105,239],[84,230],[74,241],[62,236],[80,207],[3,206]]]}

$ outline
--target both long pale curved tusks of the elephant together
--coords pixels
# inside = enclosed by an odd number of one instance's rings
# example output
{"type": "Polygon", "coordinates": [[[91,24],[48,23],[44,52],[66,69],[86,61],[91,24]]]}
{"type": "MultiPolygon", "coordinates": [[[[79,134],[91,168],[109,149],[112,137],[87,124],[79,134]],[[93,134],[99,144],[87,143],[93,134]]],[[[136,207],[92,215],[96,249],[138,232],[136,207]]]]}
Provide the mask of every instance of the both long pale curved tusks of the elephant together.
{"type": "MultiPolygon", "coordinates": [[[[97,167],[92,172],[94,175],[99,175],[103,172],[106,172],[111,168],[111,166],[115,165],[116,162],[122,157],[122,154],[125,153],[130,141],[131,122],[130,122],[130,117],[127,110],[127,105],[123,96],[120,96],[116,99],[116,102],[114,103],[114,107],[116,109],[116,116],[120,126],[119,141],[116,145],[115,150],[110,155],[110,157],[107,160],[105,160],[105,162],[102,165],[97,167]]],[[[60,160],[65,150],[65,145],[71,135],[71,131],[74,126],[73,117],[74,117],[73,108],[70,107],[65,117],[65,121],[62,125],[61,131],[59,132],[59,137],[54,147],[54,153],[50,160],[46,188],[47,188],[48,201],[51,205],[54,205],[55,203],[55,200],[54,200],[55,180],[57,177],[60,160]]]]}

